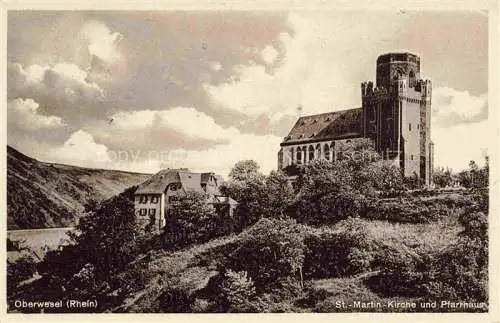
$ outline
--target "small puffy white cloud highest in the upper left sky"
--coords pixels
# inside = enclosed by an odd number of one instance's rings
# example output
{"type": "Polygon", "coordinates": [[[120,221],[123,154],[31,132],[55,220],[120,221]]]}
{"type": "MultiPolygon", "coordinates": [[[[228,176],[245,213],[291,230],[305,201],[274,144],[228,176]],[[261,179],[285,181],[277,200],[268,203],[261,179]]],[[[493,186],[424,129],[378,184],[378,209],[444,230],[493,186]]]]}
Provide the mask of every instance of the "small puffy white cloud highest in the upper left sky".
{"type": "Polygon", "coordinates": [[[98,21],[85,23],[81,32],[89,42],[90,54],[108,63],[113,63],[121,58],[118,44],[123,39],[122,34],[111,32],[108,26],[98,21]]]}

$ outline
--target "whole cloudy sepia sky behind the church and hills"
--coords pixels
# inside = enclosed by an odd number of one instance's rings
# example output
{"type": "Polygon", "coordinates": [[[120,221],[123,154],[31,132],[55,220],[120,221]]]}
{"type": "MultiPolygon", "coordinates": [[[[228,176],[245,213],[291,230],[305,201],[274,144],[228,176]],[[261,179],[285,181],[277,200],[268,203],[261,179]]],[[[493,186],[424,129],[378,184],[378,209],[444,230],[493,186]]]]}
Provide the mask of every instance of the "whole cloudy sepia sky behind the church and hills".
{"type": "Polygon", "coordinates": [[[7,141],[85,167],[268,172],[299,105],[360,107],[393,51],[432,81],[435,165],[481,164],[488,17],[473,11],[9,11],[7,141]]]}

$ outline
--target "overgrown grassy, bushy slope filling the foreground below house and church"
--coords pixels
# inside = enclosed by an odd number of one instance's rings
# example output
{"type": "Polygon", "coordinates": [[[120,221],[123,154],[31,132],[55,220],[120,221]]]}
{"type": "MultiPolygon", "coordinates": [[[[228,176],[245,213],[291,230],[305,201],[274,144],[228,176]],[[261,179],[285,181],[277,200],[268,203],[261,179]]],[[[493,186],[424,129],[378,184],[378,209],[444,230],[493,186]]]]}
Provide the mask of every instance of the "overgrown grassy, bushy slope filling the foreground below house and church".
{"type": "MultiPolygon", "coordinates": [[[[102,204],[89,225],[80,223],[83,239],[46,257],[38,266],[41,278],[11,287],[9,299],[91,295],[98,308],[78,311],[144,313],[413,312],[429,310],[390,304],[443,297],[484,301],[486,281],[478,274],[484,255],[475,247],[484,247],[484,216],[469,214],[477,206],[452,207],[447,216],[421,223],[358,217],[309,226],[264,218],[242,232],[179,249],[161,236],[129,237],[137,229],[127,217],[132,197],[129,189],[102,204]],[[464,233],[472,234],[473,243],[464,233]],[[291,269],[295,261],[300,272],[291,269]],[[339,301],[385,305],[339,307],[339,301]]],[[[22,274],[22,264],[9,266],[14,278],[22,274]]]]}

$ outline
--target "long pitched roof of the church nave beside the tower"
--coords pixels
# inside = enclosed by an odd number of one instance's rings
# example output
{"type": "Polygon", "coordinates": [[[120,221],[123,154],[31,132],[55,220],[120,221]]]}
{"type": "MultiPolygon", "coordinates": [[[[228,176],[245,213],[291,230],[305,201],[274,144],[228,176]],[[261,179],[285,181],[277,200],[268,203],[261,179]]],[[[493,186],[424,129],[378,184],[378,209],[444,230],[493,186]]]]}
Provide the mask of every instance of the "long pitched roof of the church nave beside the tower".
{"type": "Polygon", "coordinates": [[[281,145],[360,137],[361,118],[361,108],[300,117],[281,145]]]}

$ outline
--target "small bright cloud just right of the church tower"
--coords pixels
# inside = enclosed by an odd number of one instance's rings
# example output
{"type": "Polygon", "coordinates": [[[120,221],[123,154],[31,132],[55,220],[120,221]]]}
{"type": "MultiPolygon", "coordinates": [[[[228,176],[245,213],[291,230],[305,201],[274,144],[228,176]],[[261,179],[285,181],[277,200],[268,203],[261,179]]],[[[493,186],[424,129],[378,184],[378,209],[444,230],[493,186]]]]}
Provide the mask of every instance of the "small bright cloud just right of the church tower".
{"type": "Polygon", "coordinates": [[[488,118],[488,97],[486,93],[474,96],[468,91],[439,87],[432,93],[432,113],[442,127],[481,122],[488,118]]]}

